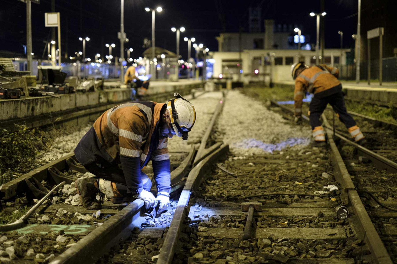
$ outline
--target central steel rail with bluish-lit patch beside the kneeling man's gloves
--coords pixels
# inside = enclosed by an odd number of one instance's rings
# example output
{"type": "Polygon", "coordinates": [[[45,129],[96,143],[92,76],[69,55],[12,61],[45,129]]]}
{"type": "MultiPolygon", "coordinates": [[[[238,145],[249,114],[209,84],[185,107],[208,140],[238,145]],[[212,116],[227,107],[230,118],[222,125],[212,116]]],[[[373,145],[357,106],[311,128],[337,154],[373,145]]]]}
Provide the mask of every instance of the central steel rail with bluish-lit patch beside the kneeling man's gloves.
{"type": "Polygon", "coordinates": [[[194,164],[197,165],[193,167],[193,169],[191,170],[191,172],[189,172],[189,175],[187,176],[185,187],[183,188],[181,196],[179,197],[177,208],[175,209],[170,228],[168,228],[163,246],[160,251],[160,255],[156,262],[157,264],[172,263],[173,255],[175,253],[175,249],[177,247],[177,242],[179,239],[179,233],[181,232],[183,220],[185,219],[186,212],[189,207],[189,199],[193,188],[198,187],[204,174],[206,174],[206,172],[208,172],[208,170],[210,169],[211,163],[213,163],[220,156],[224,155],[225,153],[227,153],[227,151],[229,151],[229,145],[220,145],[219,143],[216,143],[208,149],[205,149],[206,143],[208,141],[210,133],[212,132],[215,121],[222,111],[224,102],[225,96],[222,96],[222,99],[216,106],[215,112],[212,115],[210,124],[208,125],[207,130],[201,139],[200,146],[198,148],[194,162],[194,164]]]}

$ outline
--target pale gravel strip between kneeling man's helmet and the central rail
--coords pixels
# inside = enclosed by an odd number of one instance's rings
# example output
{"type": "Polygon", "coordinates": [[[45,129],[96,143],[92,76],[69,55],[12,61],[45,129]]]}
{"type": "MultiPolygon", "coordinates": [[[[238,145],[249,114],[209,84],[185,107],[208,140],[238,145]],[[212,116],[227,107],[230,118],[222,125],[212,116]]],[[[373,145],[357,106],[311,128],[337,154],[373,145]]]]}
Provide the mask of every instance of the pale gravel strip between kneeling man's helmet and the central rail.
{"type": "Polygon", "coordinates": [[[212,118],[212,114],[220,98],[222,98],[221,92],[208,92],[196,99],[190,100],[196,110],[195,125],[192,131],[189,132],[188,140],[182,140],[182,138],[177,136],[169,139],[169,151],[189,151],[190,144],[200,143],[201,137],[207,129],[207,125],[212,118]]]}

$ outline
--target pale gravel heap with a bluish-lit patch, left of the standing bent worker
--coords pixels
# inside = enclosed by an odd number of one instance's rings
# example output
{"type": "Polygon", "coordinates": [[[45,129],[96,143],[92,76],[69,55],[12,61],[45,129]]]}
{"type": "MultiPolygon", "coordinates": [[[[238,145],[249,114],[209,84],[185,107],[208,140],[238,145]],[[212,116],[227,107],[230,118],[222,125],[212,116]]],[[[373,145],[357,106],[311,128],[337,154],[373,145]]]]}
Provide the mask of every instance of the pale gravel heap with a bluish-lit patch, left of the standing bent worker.
{"type": "Polygon", "coordinates": [[[307,126],[287,124],[281,115],[238,91],[227,93],[216,130],[235,155],[302,147],[311,139],[307,126]]]}

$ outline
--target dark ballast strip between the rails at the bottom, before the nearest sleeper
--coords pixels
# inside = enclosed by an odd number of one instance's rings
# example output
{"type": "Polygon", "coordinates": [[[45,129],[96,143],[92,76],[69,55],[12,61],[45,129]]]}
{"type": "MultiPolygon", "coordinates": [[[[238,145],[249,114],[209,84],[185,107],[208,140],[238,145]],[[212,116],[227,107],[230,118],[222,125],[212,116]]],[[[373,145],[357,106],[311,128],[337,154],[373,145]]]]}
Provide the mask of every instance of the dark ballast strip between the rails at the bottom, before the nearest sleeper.
{"type": "MultiPolygon", "coordinates": [[[[201,228],[199,227],[198,230],[201,228]]],[[[178,254],[183,263],[287,263],[291,258],[344,258],[369,254],[361,239],[303,240],[303,239],[227,239],[197,234],[184,244],[187,254],[178,254]],[[195,239],[197,237],[197,239],[195,239]],[[186,261],[187,260],[187,261],[186,261]]]]}

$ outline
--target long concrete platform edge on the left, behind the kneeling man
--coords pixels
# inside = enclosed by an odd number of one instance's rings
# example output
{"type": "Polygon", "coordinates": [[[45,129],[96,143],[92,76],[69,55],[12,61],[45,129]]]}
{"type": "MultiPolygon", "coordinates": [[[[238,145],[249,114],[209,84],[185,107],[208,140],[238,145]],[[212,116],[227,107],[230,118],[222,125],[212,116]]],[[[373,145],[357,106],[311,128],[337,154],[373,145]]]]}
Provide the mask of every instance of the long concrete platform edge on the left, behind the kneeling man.
{"type": "MultiPolygon", "coordinates": [[[[119,84],[120,82],[105,82],[104,90],[58,94],[59,98],[35,96],[19,99],[0,99],[0,127],[8,128],[14,122],[25,123],[29,127],[45,125],[48,122],[56,122],[61,119],[73,119],[73,122],[76,122],[77,116],[84,117],[78,123],[87,122],[93,119],[94,116],[96,118],[98,113],[106,111],[106,109],[119,103],[131,100],[131,88],[127,88],[125,85],[120,88],[119,84]],[[35,122],[33,122],[33,119],[35,122]]],[[[173,96],[174,92],[189,94],[191,90],[203,87],[204,82],[201,80],[153,81],[150,82],[144,99],[162,101],[173,96]]]]}

